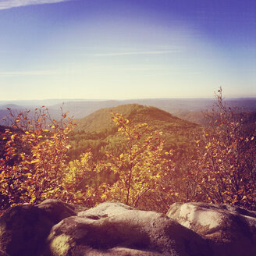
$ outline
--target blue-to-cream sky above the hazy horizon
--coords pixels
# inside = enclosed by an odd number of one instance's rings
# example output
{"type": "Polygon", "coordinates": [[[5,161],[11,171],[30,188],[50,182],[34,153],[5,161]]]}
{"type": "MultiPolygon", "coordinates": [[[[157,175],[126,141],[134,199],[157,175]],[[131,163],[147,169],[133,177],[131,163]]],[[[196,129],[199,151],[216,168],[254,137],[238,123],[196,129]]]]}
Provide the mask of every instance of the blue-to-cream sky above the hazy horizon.
{"type": "Polygon", "coordinates": [[[255,0],[0,0],[0,101],[256,97],[255,0]]]}

